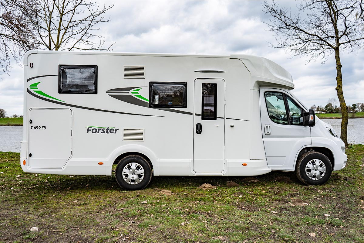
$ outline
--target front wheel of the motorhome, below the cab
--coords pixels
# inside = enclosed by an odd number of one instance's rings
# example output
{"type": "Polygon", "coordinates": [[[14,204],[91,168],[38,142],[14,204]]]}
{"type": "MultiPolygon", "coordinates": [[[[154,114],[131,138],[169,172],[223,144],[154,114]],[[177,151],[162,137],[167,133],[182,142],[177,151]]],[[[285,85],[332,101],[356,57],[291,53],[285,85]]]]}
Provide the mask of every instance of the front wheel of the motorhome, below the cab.
{"type": "Polygon", "coordinates": [[[297,162],[296,175],[306,185],[322,185],[332,173],[332,165],[328,157],[318,152],[302,154],[297,162]]]}

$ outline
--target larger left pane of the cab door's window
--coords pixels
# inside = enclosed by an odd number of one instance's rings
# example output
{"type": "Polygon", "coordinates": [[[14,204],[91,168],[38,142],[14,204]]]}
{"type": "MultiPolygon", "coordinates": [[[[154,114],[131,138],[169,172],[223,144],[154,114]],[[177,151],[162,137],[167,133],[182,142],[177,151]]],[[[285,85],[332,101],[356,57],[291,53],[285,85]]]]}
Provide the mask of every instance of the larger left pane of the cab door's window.
{"type": "Polygon", "coordinates": [[[278,124],[289,124],[283,94],[265,92],[264,96],[270,119],[278,124]]]}

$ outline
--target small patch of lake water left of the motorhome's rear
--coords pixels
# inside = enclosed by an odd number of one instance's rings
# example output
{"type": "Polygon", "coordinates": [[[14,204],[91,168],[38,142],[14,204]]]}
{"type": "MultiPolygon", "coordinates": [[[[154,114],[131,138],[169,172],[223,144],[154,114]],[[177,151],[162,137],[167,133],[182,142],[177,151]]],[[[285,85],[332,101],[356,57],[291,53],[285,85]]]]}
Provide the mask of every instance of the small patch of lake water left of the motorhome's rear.
{"type": "Polygon", "coordinates": [[[20,153],[23,126],[0,126],[0,151],[20,153]]]}

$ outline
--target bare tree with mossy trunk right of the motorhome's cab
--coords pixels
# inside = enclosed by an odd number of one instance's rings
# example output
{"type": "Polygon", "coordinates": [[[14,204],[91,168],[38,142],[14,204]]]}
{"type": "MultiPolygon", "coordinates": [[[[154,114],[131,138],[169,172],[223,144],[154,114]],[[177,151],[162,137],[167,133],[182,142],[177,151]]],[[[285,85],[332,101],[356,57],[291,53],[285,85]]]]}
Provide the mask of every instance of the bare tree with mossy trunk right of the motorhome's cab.
{"type": "Polygon", "coordinates": [[[309,61],[321,57],[322,63],[335,54],[336,91],[343,118],[341,139],[348,147],[348,109],[343,94],[340,53],[353,52],[363,43],[364,33],[357,21],[357,16],[363,16],[363,1],[304,1],[298,7],[301,14],[293,16],[290,10],[279,7],[274,1],[265,1],[263,6],[271,17],[265,23],[276,34],[277,45],[273,47],[286,48],[293,55],[308,55],[309,61]]]}

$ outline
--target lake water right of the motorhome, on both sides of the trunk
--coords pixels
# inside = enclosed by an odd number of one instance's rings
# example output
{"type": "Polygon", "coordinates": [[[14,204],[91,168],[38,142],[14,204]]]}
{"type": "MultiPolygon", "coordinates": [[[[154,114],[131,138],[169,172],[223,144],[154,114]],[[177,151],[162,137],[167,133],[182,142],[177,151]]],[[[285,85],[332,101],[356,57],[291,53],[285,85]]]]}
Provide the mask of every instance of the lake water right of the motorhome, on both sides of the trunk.
{"type": "MultiPolygon", "coordinates": [[[[323,119],[330,124],[340,137],[341,119],[323,119]]],[[[348,121],[348,143],[364,144],[364,118],[349,119],[348,121]]]]}

